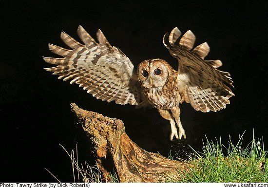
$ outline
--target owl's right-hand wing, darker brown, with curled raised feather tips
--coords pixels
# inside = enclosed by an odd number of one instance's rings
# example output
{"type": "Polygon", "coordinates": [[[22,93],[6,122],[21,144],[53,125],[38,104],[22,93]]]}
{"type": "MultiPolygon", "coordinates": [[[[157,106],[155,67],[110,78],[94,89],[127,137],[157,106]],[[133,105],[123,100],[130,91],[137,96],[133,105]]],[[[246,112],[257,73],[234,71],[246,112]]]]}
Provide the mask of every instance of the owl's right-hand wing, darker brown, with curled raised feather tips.
{"type": "Polygon", "coordinates": [[[164,36],[163,42],[179,61],[177,85],[181,102],[191,103],[201,112],[224,109],[234,95],[228,87],[233,83],[230,74],[217,70],[222,65],[220,60],[204,60],[210,51],[206,42],[191,50],[195,41],[193,33],[189,30],[178,40],[180,35],[179,29],[174,28],[170,35],[164,36]]]}

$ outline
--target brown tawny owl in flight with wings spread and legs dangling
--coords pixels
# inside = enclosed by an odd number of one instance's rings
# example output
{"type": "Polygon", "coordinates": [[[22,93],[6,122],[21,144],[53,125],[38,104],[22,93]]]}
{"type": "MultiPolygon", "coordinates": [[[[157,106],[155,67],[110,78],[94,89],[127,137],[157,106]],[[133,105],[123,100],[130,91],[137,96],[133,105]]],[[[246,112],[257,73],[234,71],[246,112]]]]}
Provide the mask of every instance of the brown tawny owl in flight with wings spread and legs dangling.
{"type": "Polygon", "coordinates": [[[71,49],[49,44],[49,50],[62,57],[43,57],[45,62],[57,65],[45,70],[59,75],[58,79],[79,84],[97,99],[136,108],[153,106],[170,121],[170,140],[186,138],[179,104],[191,103],[196,111],[216,112],[226,108],[234,95],[230,74],[217,70],[222,62],[204,60],[209,45],[204,42],[192,50],[195,36],[190,30],[180,38],[181,32],[176,27],[163,37],[164,45],[178,60],[178,71],[161,58],[145,60],[136,70],[131,60],[112,46],[100,30],[96,33],[98,42],[81,26],[77,34],[83,44],[64,32],[60,34],[71,49]]]}

